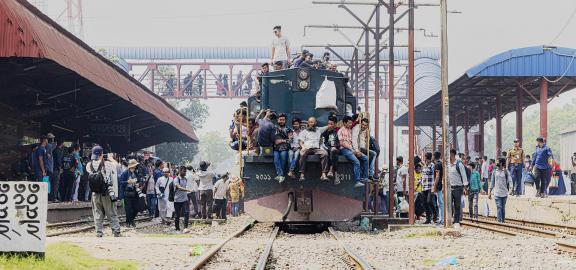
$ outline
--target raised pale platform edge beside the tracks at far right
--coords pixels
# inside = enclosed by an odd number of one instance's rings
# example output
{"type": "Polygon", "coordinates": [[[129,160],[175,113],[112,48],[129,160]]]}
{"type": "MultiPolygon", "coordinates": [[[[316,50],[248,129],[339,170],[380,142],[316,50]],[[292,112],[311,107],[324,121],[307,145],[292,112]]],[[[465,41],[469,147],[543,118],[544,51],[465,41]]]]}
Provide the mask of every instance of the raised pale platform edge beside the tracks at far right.
{"type": "MultiPolygon", "coordinates": [[[[468,212],[468,200],[465,198],[464,212],[468,212]]],[[[496,216],[494,198],[480,195],[478,213],[483,216],[496,216]]],[[[551,223],[557,225],[576,225],[576,196],[549,196],[536,198],[530,195],[508,196],[506,218],[530,222],[551,223]]]]}

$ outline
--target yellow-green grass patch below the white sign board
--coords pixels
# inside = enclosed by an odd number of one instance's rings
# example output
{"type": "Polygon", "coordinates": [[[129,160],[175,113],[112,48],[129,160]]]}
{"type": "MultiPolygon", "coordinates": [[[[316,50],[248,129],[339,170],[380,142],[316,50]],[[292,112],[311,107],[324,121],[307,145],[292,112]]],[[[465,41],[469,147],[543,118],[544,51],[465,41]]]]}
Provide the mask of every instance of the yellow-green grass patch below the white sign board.
{"type": "Polygon", "coordinates": [[[138,264],[125,260],[95,258],[79,246],[70,243],[55,243],[46,248],[44,260],[34,256],[0,256],[0,269],[138,269],[138,264]]]}

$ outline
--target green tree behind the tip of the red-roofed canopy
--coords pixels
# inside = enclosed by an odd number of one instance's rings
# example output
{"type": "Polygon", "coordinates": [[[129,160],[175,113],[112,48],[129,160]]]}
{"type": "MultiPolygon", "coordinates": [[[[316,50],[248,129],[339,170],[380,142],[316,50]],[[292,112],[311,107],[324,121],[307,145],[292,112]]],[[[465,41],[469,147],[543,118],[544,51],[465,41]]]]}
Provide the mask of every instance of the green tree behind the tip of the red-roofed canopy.
{"type": "MultiPolygon", "coordinates": [[[[208,106],[196,99],[174,101],[172,105],[190,120],[194,129],[202,128],[208,118],[208,106]]],[[[156,155],[174,164],[190,163],[198,153],[197,143],[170,142],[156,146],[156,155]]]]}

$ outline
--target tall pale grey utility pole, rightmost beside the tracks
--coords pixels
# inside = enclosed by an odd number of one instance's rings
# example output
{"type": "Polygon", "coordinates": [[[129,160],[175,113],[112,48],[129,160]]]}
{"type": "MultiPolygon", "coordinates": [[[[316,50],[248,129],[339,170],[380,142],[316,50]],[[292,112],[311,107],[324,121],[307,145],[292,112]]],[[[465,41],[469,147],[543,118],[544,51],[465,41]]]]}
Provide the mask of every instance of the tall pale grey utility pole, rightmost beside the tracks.
{"type": "Polygon", "coordinates": [[[448,95],[448,0],[440,0],[440,67],[442,88],[442,147],[444,147],[442,190],[444,195],[444,228],[452,226],[452,194],[448,185],[447,167],[450,162],[450,144],[448,143],[448,128],[450,126],[450,97],[448,95]]]}

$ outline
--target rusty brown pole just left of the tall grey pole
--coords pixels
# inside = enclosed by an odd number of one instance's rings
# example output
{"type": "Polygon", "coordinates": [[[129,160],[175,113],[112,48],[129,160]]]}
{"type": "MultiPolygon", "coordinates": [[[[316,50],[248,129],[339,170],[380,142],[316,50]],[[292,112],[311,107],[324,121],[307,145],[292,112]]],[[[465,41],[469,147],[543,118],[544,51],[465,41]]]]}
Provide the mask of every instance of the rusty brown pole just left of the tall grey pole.
{"type": "Polygon", "coordinates": [[[408,0],[408,179],[410,210],[408,221],[414,224],[414,0],[408,0]]]}

